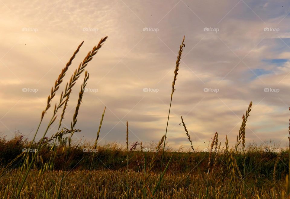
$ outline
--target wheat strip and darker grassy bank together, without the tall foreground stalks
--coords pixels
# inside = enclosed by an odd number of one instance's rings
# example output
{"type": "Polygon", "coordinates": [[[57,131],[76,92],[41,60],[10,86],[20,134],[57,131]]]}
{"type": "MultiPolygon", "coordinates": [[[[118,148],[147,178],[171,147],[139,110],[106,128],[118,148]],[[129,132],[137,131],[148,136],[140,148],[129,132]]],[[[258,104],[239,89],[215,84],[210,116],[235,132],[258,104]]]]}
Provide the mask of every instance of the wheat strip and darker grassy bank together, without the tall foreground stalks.
{"type": "MultiPolygon", "coordinates": [[[[38,143],[39,144],[39,143],[38,143]]],[[[12,140],[1,139],[1,156],[3,164],[5,157],[14,159],[21,154],[22,148],[29,147],[29,142],[19,135],[12,140]]],[[[53,165],[54,169],[40,172],[43,167],[42,162],[49,161],[52,143],[47,144],[40,152],[35,168],[31,170],[26,178],[25,186],[21,191],[21,198],[56,198],[58,183],[62,179],[63,160],[66,157],[67,144],[65,140],[57,145],[56,157],[53,165]],[[44,183],[46,182],[45,186],[44,183]],[[43,189],[45,187],[45,189],[43,189]]],[[[32,148],[37,147],[37,143],[32,148]]],[[[150,146],[152,147],[152,146],[150,146]]],[[[140,150],[140,145],[128,153],[127,172],[127,151],[118,148],[116,144],[97,147],[94,168],[91,172],[90,160],[92,153],[83,152],[83,148],[92,146],[74,145],[69,152],[66,171],[64,173],[62,198],[127,198],[127,185],[129,198],[138,198],[140,188],[144,180],[145,152],[140,150]],[[127,178],[128,176],[128,178],[127,178]]],[[[288,151],[280,153],[265,152],[263,148],[252,147],[246,154],[246,181],[236,176],[231,179],[231,172],[227,166],[227,160],[223,153],[218,155],[216,164],[208,172],[209,152],[177,152],[165,151],[164,162],[170,160],[169,167],[164,175],[158,198],[224,198],[226,194],[229,198],[230,191],[234,194],[237,191],[238,197],[245,197],[243,189],[249,198],[280,198],[285,190],[285,177],[288,173],[288,151]],[[208,195],[207,179],[209,179],[208,195]],[[234,183],[233,187],[231,183],[234,183]],[[239,196],[239,194],[241,194],[239,196]]],[[[154,152],[147,152],[147,160],[150,163],[154,152]]],[[[147,179],[148,188],[154,187],[159,179],[159,168],[161,151],[158,153],[157,161],[152,168],[152,174],[147,179]]],[[[243,169],[243,154],[236,156],[237,165],[243,169]]],[[[213,163],[213,159],[211,162],[213,163]]],[[[5,163],[6,162],[6,163],[5,163]]],[[[2,165],[5,167],[5,165],[2,165]]],[[[6,173],[1,180],[0,195],[3,198],[14,198],[13,193],[15,181],[20,172],[21,164],[17,168],[6,173]],[[6,188],[7,186],[7,188],[6,188]]],[[[19,181],[20,183],[20,181],[19,181]]],[[[150,196],[148,190],[145,190],[150,196]]]]}

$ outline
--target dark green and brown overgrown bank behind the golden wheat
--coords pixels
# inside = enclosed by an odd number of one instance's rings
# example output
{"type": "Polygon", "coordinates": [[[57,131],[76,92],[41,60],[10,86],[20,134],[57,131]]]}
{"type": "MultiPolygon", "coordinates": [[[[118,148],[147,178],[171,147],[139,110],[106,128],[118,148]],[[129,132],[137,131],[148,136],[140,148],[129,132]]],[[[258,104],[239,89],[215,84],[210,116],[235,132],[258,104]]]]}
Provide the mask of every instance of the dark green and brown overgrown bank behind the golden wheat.
{"type": "MultiPolygon", "coordinates": [[[[54,170],[63,169],[63,160],[68,150],[68,144],[66,143],[67,137],[64,137],[59,144],[56,144],[56,155],[53,160],[54,170]]],[[[32,149],[35,149],[40,144],[39,141],[35,141],[32,144],[32,149]]],[[[130,145],[130,143],[129,143],[130,145]]],[[[30,141],[27,138],[24,138],[23,135],[17,134],[12,139],[7,139],[5,137],[0,138],[0,165],[1,167],[6,167],[9,162],[14,160],[18,155],[22,153],[22,149],[28,149],[30,146],[30,141]]],[[[53,143],[47,142],[47,144],[42,148],[38,153],[37,163],[35,164],[36,169],[41,169],[43,167],[42,162],[47,162],[50,159],[52,151],[50,150],[53,147],[53,143]]],[[[151,143],[149,146],[137,146],[135,150],[129,149],[128,152],[128,167],[135,172],[140,172],[144,167],[144,155],[145,148],[153,149],[156,146],[153,146],[151,143]],[[141,150],[141,147],[143,148],[141,150]],[[139,166],[138,166],[139,163],[139,166]],[[140,170],[141,168],[141,170],[140,170]]],[[[92,160],[92,155],[94,152],[84,152],[84,149],[92,149],[92,144],[72,144],[69,149],[69,159],[67,165],[65,166],[66,170],[86,170],[90,169],[90,164],[92,160]]],[[[116,143],[107,144],[105,146],[97,146],[96,152],[94,153],[95,160],[92,164],[93,170],[124,170],[127,166],[127,150],[116,143]]],[[[284,179],[288,173],[288,150],[279,151],[279,153],[273,152],[275,150],[265,151],[265,147],[252,147],[249,148],[246,152],[246,172],[251,176],[259,178],[273,178],[273,170],[276,164],[276,179],[284,179]],[[276,163],[277,162],[277,163],[276,163]]],[[[155,152],[146,152],[147,159],[151,160],[155,152]]],[[[161,166],[161,151],[157,153],[158,158],[153,167],[154,172],[158,172],[161,166]]],[[[188,150],[174,151],[172,149],[166,150],[164,152],[164,162],[168,162],[169,159],[169,169],[166,173],[172,174],[196,174],[208,171],[208,159],[209,152],[188,152],[188,150]],[[195,169],[193,169],[195,168],[195,169]]],[[[216,170],[219,172],[221,168],[224,167],[225,162],[224,153],[218,154],[216,170]]],[[[236,156],[237,165],[239,168],[243,168],[243,155],[238,153],[236,156]]],[[[14,164],[14,169],[17,169],[21,166],[21,162],[14,164]]]]}

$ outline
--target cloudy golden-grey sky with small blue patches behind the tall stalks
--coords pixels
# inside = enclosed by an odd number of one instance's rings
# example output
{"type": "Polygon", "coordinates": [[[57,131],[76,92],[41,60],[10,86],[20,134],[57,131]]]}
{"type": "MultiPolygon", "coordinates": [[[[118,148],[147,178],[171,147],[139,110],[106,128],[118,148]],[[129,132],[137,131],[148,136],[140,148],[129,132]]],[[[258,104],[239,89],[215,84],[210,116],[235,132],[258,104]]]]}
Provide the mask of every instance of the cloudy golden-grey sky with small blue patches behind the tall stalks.
{"type": "MultiPolygon", "coordinates": [[[[190,147],[180,115],[203,150],[218,132],[234,146],[250,101],[247,144],[285,147],[290,106],[289,1],[0,1],[0,134],[30,139],[61,69],[77,46],[52,106],[83,58],[108,36],[87,66],[87,92],[73,135],[99,143],[158,142],[165,134],[179,45],[185,48],[173,94],[166,142],[190,147]],[[208,92],[207,92],[208,91],[208,92]]],[[[69,128],[84,74],[72,90],[69,128]]],[[[49,109],[37,134],[52,116],[49,109]]],[[[61,111],[58,112],[58,118],[61,111]]],[[[47,137],[56,133],[56,120],[47,137]]]]}

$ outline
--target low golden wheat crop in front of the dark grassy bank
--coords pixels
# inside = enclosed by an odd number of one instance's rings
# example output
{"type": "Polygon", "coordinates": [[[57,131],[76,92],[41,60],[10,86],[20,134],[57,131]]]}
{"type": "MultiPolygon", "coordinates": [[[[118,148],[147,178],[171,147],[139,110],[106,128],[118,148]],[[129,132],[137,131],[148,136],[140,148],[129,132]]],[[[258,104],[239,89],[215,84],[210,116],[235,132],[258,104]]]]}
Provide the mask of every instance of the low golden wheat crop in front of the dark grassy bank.
{"type": "MultiPolygon", "coordinates": [[[[15,179],[19,170],[12,171],[3,178],[0,185],[0,194],[5,198],[14,198],[11,194],[15,179]],[[9,185],[5,188],[4,185],[9,185]]],[[[21,192],[21,198],[43,198],[43,175],[38,175],[38,170],[32,170],[27,178],[27,184],[21,192]]],[[[90,174],[86,170],[74,170],[65,172],[63,181],[62,198],[127,198],[126,171],[98,170],[90,174]]],[[[55,182],[61,179],[61,171],[51,171],[47,173],[49,181],[46,183],[44,192],[47,198],[56,198],[55,182]]],[[[148,187],[153,187],[158,181],[158,173],[153,173],[148,179],[148,187]]],[[[159,198],[205,198],[207,175],[202,172],[190,174],[168,173],[163,178],[159,198]]],[[[215,172],[209,188],[209,198],[227,198],[230,190],[230,179],[224,179],[224,183],[218,179],[215,172]]],[[[142,175],[139,172],[128,172],[129,197],[138,198],[140,187],[143,186],[142,175]]],[[[247,196],[249,198],[280,198],[284,183],[282,180],[273,182],[272,178],[249,178],[247,180],[247,196]]],[[[242,182],[237,184],[238,190],[242,190],[242,182]]],[[[146,191],[147,195],[150,195],[146,191]]],[[[157,195],[156,195],[157,196],[157,195]]],[[[241,197],[244,197],[242,194],[241,197]]]]}

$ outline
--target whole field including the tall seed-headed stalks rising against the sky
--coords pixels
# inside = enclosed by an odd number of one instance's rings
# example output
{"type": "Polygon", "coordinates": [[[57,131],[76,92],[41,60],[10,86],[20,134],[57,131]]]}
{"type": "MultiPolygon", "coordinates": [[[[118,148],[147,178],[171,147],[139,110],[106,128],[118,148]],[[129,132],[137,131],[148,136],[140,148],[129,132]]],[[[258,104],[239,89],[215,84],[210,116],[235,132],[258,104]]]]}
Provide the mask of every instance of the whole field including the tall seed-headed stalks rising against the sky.
{"type": "MultiPolygon", "coordinates": [[[[234,148],[229,148],[228,139],[224,144],[213,135],[205,151],[195,151],[185,122],[184,136],[191,149],[187,151],[166,150],[166,135],[170,108],[179,71],[183,38],[174,70],[170,107],[165,135],[150,146],[129,143],[128,126],[126,146],[116,143],[98,145],[98,138],[105,115],[103,111],[96,139],[92,144],[72,143],[72,135],[80,132],[76,128],[77,116],[84,95],[89,73],[85,67],[92,60],[107,37],[79,64],[72,74],[60,100],[51,106],[63,77],[71,65],[82,43],[74,52],[65,68],[55,81],[47,99],[47,106],[41,113],[38,129],[32,140],[21,134],[12,139],[0,139],[2,198],[289,198],[289,148],[273,146],[258,147],[254,143],[246,147],[246,123],[250,119],[252,102],[241,117],[242,124],[237,133],[234,148]],[[62,121],[72,88],[84,72],[71,128],[63,128],[62,121]],[[53,109],[46,131],[37,141],[39,127],[47,110],[53,109]],[[59,127],[51,137],[47,131],[56,122],[60,112],[59,127]]],[[[290,109],[290,108],[289,108],[290,109]]]]}

